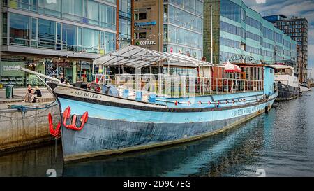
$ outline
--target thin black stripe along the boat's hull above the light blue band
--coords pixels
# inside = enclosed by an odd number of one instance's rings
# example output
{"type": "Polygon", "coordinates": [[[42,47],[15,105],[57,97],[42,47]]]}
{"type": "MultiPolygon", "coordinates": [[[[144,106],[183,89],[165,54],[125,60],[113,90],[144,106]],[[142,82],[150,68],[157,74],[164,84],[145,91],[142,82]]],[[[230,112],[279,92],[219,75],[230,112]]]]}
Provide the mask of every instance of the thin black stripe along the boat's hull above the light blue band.
{"type": "MultiPolygon", "coordinates": [[[[111,101],[103,101],[103,100],[96,100],[96,99],[89,99],[89,98],[82,98],[82,97],[75,97],[71,95],[66,94],[57,94],[58,98],[63,99],[70,99],[75,101],[82,101],[87,102],[91,104],[99,104],[104,106],[113,106],[113,107],[120,107],[120,108],[130,108],[135,110],[142,110],[142,111],[156,111],[156,112],[177,112],[177,113],[186,113],[186,112],[206,112],[206,111],[224,111],[224,110],[230,110],[230,109],[237,109],[237,108],[246,108],[250,106],[257,106],[260,104],[264,104],[267,101],[260,101],[253,104],[244,104],[241,106],[226,106],[226,107],[219,107],[219,108],[154,108],[154,107],[146,107],[146,106],[136,106],[131,104],[121,104],[117,102],[111,102],[111,101]]],[[[276,98],[273,98],[269,101],[272,101],[276,98]]]]}

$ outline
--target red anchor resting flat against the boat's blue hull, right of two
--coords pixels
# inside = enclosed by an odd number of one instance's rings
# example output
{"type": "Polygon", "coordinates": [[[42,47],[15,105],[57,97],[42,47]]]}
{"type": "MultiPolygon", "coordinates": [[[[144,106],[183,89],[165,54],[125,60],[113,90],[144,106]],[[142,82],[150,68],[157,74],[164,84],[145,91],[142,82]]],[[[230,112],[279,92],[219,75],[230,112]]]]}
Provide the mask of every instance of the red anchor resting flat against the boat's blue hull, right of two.
{"type": "Polygon", "coordinates": [[[81,126],[80,127],[76,127],[77,115],[73,115],[71,124],[70,125],[66,125],[66,120],[68,120],[70,118],[70,113],[71,113],[71,109],[70,109],[70,106],[68,106],[66,108],[66,110],[63,112],[63,126],[66,127],[67,129],[73,129],[75,131],[82,130],[84,125],[85,125],[85,123],[87,122],[87,119],[89,118],[89,113],[86,111],[82,115],[82,117],[80,118],[80,122],[81,122],[81,126]]]}

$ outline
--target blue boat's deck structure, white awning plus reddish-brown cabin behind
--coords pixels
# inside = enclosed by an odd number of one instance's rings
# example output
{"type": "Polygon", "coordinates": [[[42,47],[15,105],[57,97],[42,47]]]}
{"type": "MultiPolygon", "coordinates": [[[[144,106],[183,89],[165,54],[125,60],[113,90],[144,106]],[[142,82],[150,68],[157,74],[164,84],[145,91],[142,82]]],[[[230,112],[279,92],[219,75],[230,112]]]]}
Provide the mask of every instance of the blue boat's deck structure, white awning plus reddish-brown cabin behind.
{"type": "MultiPolygon", "coordinates": [[[[214,65],[186,55],[129,45],[94,60],[95,83],[121,97],[190,97],[264,91],[264,65],[214,65]]],[[[101,90],[100,90],[101,91],[101,90]]]]}

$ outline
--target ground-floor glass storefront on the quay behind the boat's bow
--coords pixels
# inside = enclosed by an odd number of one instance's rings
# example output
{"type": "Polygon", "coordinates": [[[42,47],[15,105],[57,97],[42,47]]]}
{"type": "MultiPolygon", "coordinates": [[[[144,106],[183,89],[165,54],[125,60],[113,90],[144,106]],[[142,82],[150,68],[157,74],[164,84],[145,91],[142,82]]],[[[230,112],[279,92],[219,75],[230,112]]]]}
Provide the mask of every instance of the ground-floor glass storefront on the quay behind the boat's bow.
{"type": "Polygon", "coordinates": [[[0,83],[3,86],[44,86],[44,83],[36,75],[19,71],[15,69],[15,66],[22,66],[53,78],[60,78],[61,74],[63,74],[68,83],[76,83],[78,81],[91,82],[93,80],[92,62],[79,59],[47,59],[10,55],[1,57],[0,83]]]}

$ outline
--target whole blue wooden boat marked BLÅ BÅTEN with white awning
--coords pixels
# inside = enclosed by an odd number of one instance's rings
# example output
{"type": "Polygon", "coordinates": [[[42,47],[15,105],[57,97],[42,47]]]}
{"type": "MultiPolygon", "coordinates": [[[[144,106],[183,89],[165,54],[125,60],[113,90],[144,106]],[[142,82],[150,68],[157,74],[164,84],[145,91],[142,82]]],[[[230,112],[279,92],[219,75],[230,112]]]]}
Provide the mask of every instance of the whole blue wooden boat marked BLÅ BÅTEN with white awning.
{"type": "Polygon", "coordinates": [[[202,139],[268,111],[278,95],[263,64],[217,66],[134,46],[94,64],[94,83],[47,83],[65,161],[202,139]]]}

